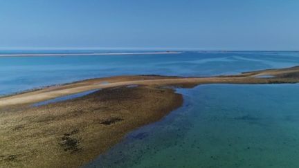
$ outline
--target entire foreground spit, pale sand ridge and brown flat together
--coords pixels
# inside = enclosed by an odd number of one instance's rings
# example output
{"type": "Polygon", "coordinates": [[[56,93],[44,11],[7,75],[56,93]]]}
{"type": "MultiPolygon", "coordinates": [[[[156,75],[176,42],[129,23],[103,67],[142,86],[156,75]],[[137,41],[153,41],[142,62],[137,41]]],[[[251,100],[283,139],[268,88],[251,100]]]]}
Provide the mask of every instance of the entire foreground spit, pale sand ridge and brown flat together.
{"type": "Polygon", "coordinates": [[[295,66],[212,77],[103,77],[0,97],[0,167],[85,165],[120,142],[129,131],[178,109],[183,95],[167,86],[298,82],[299,66],[295,66]],[[98,88],[99,91],[71,100],[30,106],[98,88]]]}

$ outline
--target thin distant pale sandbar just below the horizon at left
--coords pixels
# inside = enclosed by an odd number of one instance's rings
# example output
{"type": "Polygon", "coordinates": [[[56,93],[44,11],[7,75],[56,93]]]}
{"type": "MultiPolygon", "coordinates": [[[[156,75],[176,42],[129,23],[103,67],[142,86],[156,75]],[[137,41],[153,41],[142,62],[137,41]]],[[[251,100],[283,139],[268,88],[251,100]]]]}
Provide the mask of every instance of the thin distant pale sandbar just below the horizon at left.
{"type": "Polygon", "coordinates": [[[142,52],[142,53],[28,53],[28,54],[0,54],[0,57],[42,57],[42,56],[78,56],[78,55],[156,55],[156,54],[181,54],[181,52],[142,52]]]}

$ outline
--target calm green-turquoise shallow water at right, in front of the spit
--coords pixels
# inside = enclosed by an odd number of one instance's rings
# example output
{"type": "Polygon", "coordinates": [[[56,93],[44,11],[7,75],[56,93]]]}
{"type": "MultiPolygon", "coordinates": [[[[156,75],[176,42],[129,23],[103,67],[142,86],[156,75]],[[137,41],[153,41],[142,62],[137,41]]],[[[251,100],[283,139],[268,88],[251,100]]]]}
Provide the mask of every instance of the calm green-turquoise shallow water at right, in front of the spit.
{"type": "Polygon", "coordinates": [[[299,84],[178,89],[184,106],[87,167],[299,167],[299,84]]]}

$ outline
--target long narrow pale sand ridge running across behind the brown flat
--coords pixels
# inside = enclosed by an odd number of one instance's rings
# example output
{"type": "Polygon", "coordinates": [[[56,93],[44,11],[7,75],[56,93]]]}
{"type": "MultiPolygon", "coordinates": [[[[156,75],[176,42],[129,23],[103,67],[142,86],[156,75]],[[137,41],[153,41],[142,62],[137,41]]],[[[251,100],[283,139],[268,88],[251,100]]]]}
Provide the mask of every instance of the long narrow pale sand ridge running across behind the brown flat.
{"type": "Polygon", "coordinates": [[[16,104],[30,104],[53,99],[63,95],[80,93],[99,88],[113,88],[117,86],[142,85],[142,86],[169,86],[169,85],[198,85],[198,84],[269,84],[269,83],[296,83],[299,66],[292,68],[269,69],[254,71],[239,75],[221,75],[217,77],[165,77],[156,75],[136,75],[104,77],[84,80],[62,86],[46,87],[39,91],[32,91],[18,95],[0,98],[0,106],[16,104]],[[259,78],[260,75],[273,75],[271,78],[259,78]],[[102,82],[109,82],[103,84],[102,82]]]}

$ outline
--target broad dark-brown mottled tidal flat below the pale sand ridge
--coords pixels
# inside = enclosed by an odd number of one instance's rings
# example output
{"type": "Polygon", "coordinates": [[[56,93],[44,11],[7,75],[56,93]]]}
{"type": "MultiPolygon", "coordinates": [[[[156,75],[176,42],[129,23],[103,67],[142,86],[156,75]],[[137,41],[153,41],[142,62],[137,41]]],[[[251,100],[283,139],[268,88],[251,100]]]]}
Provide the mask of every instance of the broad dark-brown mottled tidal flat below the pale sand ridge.
{"type": "Polygon", "coordinates": [[[170,88],[120,87],[34,108],[1,109],[0,167],[79,167],[182,101],[170,88]]]}

